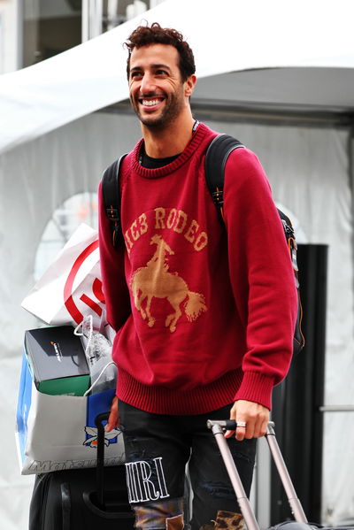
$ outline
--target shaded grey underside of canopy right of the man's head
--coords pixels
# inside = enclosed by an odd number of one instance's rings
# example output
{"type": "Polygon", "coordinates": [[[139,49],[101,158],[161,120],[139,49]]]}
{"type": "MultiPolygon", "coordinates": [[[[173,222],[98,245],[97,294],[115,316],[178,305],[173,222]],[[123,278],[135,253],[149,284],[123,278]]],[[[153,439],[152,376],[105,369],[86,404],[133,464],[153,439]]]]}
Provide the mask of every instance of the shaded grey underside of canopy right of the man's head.
{"type": "Polygon", "coordinates": [[[200,79],[193,101],[221,108],[339,113],[352,111],[353,94],[348,87],[354,87],[354,68],[266,68],[200,79]]]}

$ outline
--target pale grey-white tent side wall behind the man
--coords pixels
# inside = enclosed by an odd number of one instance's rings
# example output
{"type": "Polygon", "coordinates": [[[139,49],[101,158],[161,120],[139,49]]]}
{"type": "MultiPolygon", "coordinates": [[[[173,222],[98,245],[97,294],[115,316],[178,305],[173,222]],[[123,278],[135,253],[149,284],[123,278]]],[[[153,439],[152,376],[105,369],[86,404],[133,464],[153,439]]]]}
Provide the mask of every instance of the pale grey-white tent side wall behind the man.
{"type": "MultiPolygon", "coordinates": [[[[299,242],[329,245],[325,402],[353,403],[349,131],[221,121],[208,124],[239,137],[257,152],[269,176],[274,200],[298,219],[299,242]]],[[[4,303],[0,369],[6,378],[2,378],[0,387],[0,413],[4,425],[9,426],[3,436],[7,458],[0,472],[0,512],[7,530],[26,527],[32,488],[31,478],[19,476],[12,425],[23,333],[40,325],[20,308],[20,302],[35,283],[35,257],[42,234],[53,211],[71,196],[95,192],[104,167],[131,149],[139,136],[134,116],[96,112],[0,157],[0,183],[6,189],[0,196],[3,227],[6,219],[1,241],[6,259],[0,263],[0,296],[4,303]],[[19,211],[25,212],[24,217],[19,211]]],[[[349,413],[344,419],[339,415],[326,422],[323,518],[328,520],[331,514],[330,521],[335,522],[354,513],[354,476],[347,472],[350,462],[352,466],[354,425],[349,413]],[[335,424],[327,425],[334,420],[335,424]],[[343,421],[345,437],[339,440],[343,421]]]]}

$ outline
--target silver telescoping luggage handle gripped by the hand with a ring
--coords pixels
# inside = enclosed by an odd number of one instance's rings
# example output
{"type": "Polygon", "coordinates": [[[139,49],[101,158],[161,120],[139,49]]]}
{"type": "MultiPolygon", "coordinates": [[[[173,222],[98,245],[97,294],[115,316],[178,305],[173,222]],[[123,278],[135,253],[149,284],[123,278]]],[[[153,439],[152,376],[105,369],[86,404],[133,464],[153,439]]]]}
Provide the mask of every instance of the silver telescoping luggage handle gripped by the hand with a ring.
{"type": "MultiPolygon", "coordinates": [[[[224,437],[226,430],[235,431],[236,422],[233,419],[208,419],[207,426],[212,430],[212,434],[214,434],[215,440],[218,443],[221,457],[224,460],[231,483],[235,489],[235,494],[240,505],[244,521],[249,530],[259,530],[257,519],[255,518],[250,501],[244,491],[240,475],[235,466],[234,459],[231,456],[226,438],[224,437]]],[[[284,459],[281,455],[281,449],[279,448],[278,442],[275,438],[273,421],[268,423],[266,429],[266,441],[268,442],[274,464],[281,478],[281,483],[288,497],[289,505],[294,518],[298,523],[307,523],[307,518],[304,514],[303,507],[296,495],[296,491],[290,479],[287,466],[285,465],[284,459]]]]}

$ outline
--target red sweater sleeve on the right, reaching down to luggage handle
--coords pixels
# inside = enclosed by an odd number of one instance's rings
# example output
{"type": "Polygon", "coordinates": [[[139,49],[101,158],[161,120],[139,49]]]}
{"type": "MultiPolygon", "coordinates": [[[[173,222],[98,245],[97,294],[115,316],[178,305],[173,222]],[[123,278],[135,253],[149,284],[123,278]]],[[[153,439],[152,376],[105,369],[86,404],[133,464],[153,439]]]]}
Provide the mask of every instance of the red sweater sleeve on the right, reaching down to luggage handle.
{"type": "Polygon", "coordinates": [[[292,356],[294,272],[266,174],[250,150],[231,153],[224,189],[230,278],[246,329],[243,378],[235,400],[271,409],[273,387],[288,373],[292,356]]]}

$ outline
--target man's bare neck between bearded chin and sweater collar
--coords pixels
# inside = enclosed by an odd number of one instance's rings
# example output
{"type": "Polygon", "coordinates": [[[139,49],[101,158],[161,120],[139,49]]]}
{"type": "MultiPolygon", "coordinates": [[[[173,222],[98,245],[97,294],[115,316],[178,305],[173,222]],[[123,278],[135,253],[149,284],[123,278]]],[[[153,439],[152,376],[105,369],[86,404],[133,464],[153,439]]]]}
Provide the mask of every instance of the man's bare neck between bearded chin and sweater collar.
{"type": "Polygon", "coordinates": [[[195,120],[192,115],[176,119],[169,127],[155,130],[142,125],[145,152],[149,157],[165,158],[185,150],[193,134],[195,120]]]}

